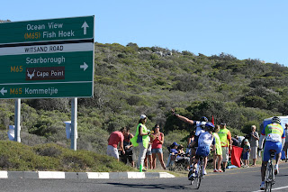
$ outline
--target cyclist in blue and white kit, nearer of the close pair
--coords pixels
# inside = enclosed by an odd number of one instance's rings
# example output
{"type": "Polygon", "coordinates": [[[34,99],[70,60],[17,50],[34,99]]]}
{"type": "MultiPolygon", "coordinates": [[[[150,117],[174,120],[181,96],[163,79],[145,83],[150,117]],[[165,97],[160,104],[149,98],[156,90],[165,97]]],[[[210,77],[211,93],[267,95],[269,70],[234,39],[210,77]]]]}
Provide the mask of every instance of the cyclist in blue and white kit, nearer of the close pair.
{"type": "Polygon", "coordinates": [[[193,180],[195,177],[195,172],[194,170],[196,169],[198,160],[200,159],[200,156],[204,157],[204,162],[203,162],[203,167],[204,169],[202,170],[202,174],[206,175],[206,166],[207,166],[207,159],[208,155],[210,153],[210,147],[213,145],[213,151],[215,151],[215,138],[213,137],[212,132],[214,131],[215,126],[208,122],[205,124],[205,132],[200,133],[199,137],[196,138],[192,142],[192,146],[195,143],[198,143],[198,148],[196,150],[196,155],[195,159],[193,161],[193,167],[190,169],[189,174],[188,174],[188,179],[193,180]]]}

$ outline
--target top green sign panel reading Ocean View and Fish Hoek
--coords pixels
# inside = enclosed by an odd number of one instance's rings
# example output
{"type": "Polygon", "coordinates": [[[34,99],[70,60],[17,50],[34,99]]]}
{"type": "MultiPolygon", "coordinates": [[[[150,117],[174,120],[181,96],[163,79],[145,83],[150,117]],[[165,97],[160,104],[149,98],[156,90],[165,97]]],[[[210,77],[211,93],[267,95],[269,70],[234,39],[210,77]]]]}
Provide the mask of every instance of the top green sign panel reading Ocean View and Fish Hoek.
{"type": "Polygon", "coordinates": [[[94,38],[94,16],[0,23],[0,44],[94,38]]]}

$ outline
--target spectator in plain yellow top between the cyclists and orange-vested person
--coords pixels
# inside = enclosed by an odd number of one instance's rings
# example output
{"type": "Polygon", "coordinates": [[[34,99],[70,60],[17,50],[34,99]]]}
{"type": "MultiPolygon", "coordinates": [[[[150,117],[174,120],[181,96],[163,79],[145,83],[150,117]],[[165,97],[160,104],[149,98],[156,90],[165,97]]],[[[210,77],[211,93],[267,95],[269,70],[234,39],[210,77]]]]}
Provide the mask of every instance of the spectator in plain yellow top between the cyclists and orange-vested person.
{"type": "Polygon", "coordinates": [[[220,131],[220,126],[216,125],[215,132],[213,133],[213,136],[215,138],[215,149],[216,149],[214,151],[214,157],[213,157],[214,172],[223,172],[220,169],[221,161],[222,161],[222,148],[221,148],[220,137],[218,135],[219,131],[220,131]]]}

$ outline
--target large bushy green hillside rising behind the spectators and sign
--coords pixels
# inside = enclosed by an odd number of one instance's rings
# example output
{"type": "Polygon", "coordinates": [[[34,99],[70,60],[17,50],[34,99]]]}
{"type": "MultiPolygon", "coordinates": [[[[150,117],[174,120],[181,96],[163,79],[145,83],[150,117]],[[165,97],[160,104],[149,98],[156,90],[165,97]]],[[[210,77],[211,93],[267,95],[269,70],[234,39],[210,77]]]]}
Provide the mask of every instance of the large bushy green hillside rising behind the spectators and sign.
{"type": "MultiPolygon", "coordinates": [[[[175,119],[171,108],[193,120],[213,115],[216,123],[226,121],[232,134],[240,135],[252,124],[259,131],[267,117],[288,114],[288,69],[278,63],[136,43],[94,46],[94,98],[78,98],[78,150],[105,154],[109,134],[123,126],[135,133],[139,114],[148,115],[148,129],[160,124],[165,147],[172,142],[185,146],[193,127],[175,119]]],[[[23,144],[57,143],[69,149],[63,123],[71,118],[69,99],[22,99],[21,113],[23,144]]],[[[8,140],[14,100],[0,100],[0,117],[0,139],[8,140]]]]}

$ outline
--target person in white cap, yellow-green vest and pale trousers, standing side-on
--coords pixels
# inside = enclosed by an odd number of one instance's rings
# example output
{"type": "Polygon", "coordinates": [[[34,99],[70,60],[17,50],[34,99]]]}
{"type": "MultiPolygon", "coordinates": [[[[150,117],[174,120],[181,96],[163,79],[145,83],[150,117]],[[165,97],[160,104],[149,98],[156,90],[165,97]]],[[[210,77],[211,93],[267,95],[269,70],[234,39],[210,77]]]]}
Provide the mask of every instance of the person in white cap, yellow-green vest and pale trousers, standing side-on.
{"type": "Polygon", "coordinates": [[[135,136],[130,139],[130,142],[132,142],[134,147],[139,146],[139,158],[137,166],[140,172],[142,172],[143,170],[144,160],[149,143],[148,134],[150,132],[145,126],[146,122],[147,122],[147,116],[145,114],[141,114],[135,136]]]}

